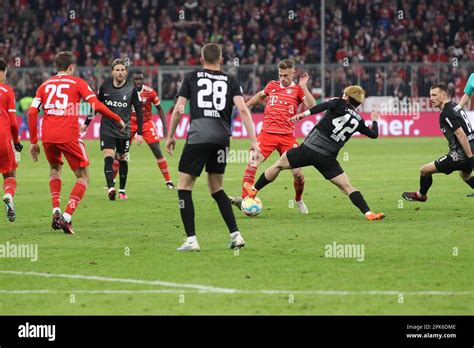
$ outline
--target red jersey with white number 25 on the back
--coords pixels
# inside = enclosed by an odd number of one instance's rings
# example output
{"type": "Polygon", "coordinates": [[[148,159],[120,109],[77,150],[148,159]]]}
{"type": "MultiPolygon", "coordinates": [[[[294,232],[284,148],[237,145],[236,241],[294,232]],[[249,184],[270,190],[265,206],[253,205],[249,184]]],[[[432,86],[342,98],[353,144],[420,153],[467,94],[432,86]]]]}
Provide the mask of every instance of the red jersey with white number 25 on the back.
{"type": "Polygon", "coordinates": [[[44,110],[41,126],[44,143],[62,144],[79,138],[81,99],[96,98],[83,79],[58,74],[43,82],[36,91],[32,108],[44,110]]]}

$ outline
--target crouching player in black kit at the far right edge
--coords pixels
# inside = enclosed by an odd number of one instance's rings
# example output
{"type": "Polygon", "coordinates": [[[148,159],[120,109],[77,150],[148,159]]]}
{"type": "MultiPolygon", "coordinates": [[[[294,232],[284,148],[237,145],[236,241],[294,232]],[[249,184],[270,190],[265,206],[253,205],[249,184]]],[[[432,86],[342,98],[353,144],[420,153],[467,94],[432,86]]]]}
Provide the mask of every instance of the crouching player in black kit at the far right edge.
{"type": "Polygon", "coordinates": [[[466,112],[459,105],[449,100],[448,87],[436,84],[430,89],[431,104],[441,110],[439,127],[449,144],[448,154],[434,162],[425,164],[420,169],[420,189],[417,192],[403,192],[402,197],[408,201],[426,202],[428,190],[433,184],[433,174],[451,174],[459,171],[461,179],[474,188],[472,167],[474,166],[474,130],[466,112]]]}

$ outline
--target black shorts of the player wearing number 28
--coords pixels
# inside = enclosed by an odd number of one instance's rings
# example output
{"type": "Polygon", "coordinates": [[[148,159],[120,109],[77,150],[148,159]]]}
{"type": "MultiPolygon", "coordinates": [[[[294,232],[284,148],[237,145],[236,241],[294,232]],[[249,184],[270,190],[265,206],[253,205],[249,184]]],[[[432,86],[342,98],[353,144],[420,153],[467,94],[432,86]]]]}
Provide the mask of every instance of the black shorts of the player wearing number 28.
{"type": "Polygon", "coordinates": [[[217,144],[186,143],[179,160],[178,170],[191,176],[200,176],[206,166],[206,172],[210,174],[224,174],[227,148],[217,144]]]}

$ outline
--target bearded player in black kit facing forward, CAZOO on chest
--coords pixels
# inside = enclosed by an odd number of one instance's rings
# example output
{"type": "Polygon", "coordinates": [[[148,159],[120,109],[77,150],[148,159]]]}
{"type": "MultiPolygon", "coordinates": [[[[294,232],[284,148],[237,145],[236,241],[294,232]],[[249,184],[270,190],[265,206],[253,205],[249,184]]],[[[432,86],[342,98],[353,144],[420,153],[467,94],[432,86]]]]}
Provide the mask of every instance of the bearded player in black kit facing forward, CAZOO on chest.
{"type": "MultiPolygon", "coordinates": [[[[107,182],[107,195],[109,200],[114,201],[117,196],[114,180],[114,159],[117,155],[119,161],[120,189],[119,199],[128,199],[125,193],[128,176],[128,151],[130,150],[130,119],[132,106],[136,112],[137,129],[135,139],[137,144],[142,143],[142,105],[135,86],[127,80],[128,69],[123,59],[115,59],[112,62],[112,79],[104,82],[99,88],[98,99],[126,124],[125,132],[108,118],[102,118],[100,122],[100,149],[104,154],[104,174],[107,182]]],[[[81,127],[85,132],[91,123],[93,115],[90,115],[81,127]]]]}

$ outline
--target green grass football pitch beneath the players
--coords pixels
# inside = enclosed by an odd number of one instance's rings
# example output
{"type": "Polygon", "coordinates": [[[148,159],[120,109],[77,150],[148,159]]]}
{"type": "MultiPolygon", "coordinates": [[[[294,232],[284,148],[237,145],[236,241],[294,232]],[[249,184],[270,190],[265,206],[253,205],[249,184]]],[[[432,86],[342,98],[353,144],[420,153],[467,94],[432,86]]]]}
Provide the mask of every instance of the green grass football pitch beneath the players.
{"type": "MultiPolygon", "coordinates": [[[[175,183],[183,144],[178,142],[174,157],[167,156],[175,183]]],[[[164,142],[161,146],[164,150],[164,142]]],[[[248,141],[233,140],[231,149],[247,146],[248,141]]],[[[0,244],[37,246],[37,260],[0,258],[0,314],[474,312],[474,198],[466,198],[472,190],[456,173],[439,174],[428,202],[401,200],[403,191],[418,189],[420,166],[446,153],[442,138],[358,138],[342,149],[339,160],[352,184],[372,210],[386,214],[384,221],[365,221],[312,167],[304,169],[310,213],[301,215],[292,208],[291,173],[282,173],[259,193],[259,216],[235,210],[246,240],[238,252],[227,249],[227,228],[204,174],[193,191],[201,251],[178,253],[184,230],[177,193],[166,188],[148,146],[132,146],[129,200],[115,202],[106,197],[98,142],[88,142],[87,149],[91,183],[73,218],[76,234],[68,236],[50,227],[44,153],[33,164],[25,146],[17,221],[1,217],[0,244]]],[[[262,168],[276,158],[273,154],[262,168]]],[[[228,164],[229,195],[239,194],[245,165],[228,164]]],[[[63,209],[73,182],[65,166],[63,209]]]]}

